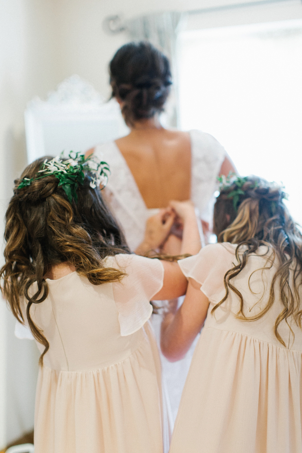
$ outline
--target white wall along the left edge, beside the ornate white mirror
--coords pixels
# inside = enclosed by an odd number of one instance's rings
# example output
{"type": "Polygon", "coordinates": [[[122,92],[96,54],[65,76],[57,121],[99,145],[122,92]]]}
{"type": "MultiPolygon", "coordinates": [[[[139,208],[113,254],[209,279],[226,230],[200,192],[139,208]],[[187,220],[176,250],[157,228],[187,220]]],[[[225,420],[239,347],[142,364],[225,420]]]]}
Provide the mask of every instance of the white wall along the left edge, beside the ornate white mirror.
{"type": "MultiPolygon", "coordinates": [[[[1,237],[13,180],[26,165],[26,102],[60,81],[54,7],[53,0],[0,0],[1,237]]],[[[14,318],[0,299],[0,449],[33,427],[37,348],[15,338],[13,328],[14,318]]]]}

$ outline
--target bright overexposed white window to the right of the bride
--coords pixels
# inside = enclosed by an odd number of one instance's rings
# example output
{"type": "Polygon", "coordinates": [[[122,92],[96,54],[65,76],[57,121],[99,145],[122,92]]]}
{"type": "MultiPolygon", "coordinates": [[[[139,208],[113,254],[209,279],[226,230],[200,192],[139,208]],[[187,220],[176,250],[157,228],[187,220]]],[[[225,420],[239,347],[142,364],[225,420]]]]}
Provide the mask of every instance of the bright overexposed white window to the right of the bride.
{"type": "Polygon", "coordinates": [[[206,18],[179,33],[177,62],[180,127],[214,135],[241,174],[281,181],[302,224],[301,2],[295,8],[301,19],[235,25],[233,14],[231,26],[224,17],[211,27],[206,18]]]}

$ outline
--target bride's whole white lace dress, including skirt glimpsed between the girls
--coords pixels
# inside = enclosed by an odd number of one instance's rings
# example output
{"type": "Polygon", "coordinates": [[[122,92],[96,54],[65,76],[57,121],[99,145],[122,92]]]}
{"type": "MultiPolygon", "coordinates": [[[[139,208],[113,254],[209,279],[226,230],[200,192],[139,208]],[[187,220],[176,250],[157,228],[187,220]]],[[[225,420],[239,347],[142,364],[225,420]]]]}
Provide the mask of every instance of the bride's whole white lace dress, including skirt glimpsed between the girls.
{"type": "MultiPolygon", "coordinates": [[[[217,175],[225,158],[225,149],[212,135],[199,130],[191,130],[190,139],[191,199],[201,218],[211,222],[213,193],[217,187],[217,175]]],[[[115,142],[96,146],[95,154],[110,164],[111,175],[103,195],[120,223],[130,249],[134,251],[144,239],[146,220],[158,210],[146,207],[132,173],[115,142]]],[[[160,316],[153,315],[152,323],[158,341],[160,322],[160,316]]],[[[174,420],[197,339],[186,357],[178,362],[170,363],[161,355],[163,381],[167,386],[174,420]]]]}

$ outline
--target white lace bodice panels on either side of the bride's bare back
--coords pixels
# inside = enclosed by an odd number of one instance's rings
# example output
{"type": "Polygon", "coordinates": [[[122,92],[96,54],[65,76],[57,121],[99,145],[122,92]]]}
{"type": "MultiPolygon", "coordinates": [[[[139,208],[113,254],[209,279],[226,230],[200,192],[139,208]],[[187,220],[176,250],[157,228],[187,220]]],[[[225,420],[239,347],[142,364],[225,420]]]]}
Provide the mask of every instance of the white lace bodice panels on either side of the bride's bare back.
{"type": "MultiPolygon", "coordinates": [[[[211,198],[216,177],[225,158],[225,149],[210,134],[190,131],[192,177],[191,198],[201,218],[211,221],[211,198]]],[[[134,177],[115,142],[96,146],[95,154],[110,164],[111,175],[103,191],[104,198],[120,223],[131,250],[143,241],[146,220],[156,211],[148,209],[134,177]]]]}

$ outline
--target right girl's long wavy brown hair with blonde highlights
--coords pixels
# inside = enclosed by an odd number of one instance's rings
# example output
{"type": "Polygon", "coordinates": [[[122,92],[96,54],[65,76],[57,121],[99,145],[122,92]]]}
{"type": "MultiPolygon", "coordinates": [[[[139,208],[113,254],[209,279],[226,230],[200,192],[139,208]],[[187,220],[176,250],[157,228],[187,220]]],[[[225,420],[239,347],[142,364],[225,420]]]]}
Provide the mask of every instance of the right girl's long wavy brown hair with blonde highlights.
{"type": "MultiPolygon", "coordinates": [[[[216,200],[214,232],[218,242],[238,244],[235,250],[238,265],[234,265],[226,272],[225,296],[213,307],[211,313],[223,304],[231,290],[240,299],[238,318],[244,321],[259,319],[273,305],[275,284],[279,280],[280,300],[284,308],[276,319],[275,335],[279,342],[286,346],[278,333],[278,326],[283,319],[288,323],[288,317],[293,315],[295,322],[301,328],[302,310],[298,289],[302,284],[302,234],[283,203],[285,193],[282,187],[256,176],[247,177],[241,188],[238,211],[230,196],[234,190],[236,190],[235,183],[223,188],[216,200]],[[243,297],[230,280],[244,269],[249,255],[255,253],[262,245],[267,246],[267,260],[262,269],[271,268],[275,258],[279,265],[270,286],[268,303],[259,314],[246,317],[243,312],[243,297]],[[270,255],[268,255],[269,251],[271,251],[270,255]],[[290,270],[293,270],[293,278],[290,276],[290,270]],[[291,278],[292,285],[290,285],[291,278]]],[[[288,326],[292,332],[289,323],[288,326]]]]}

